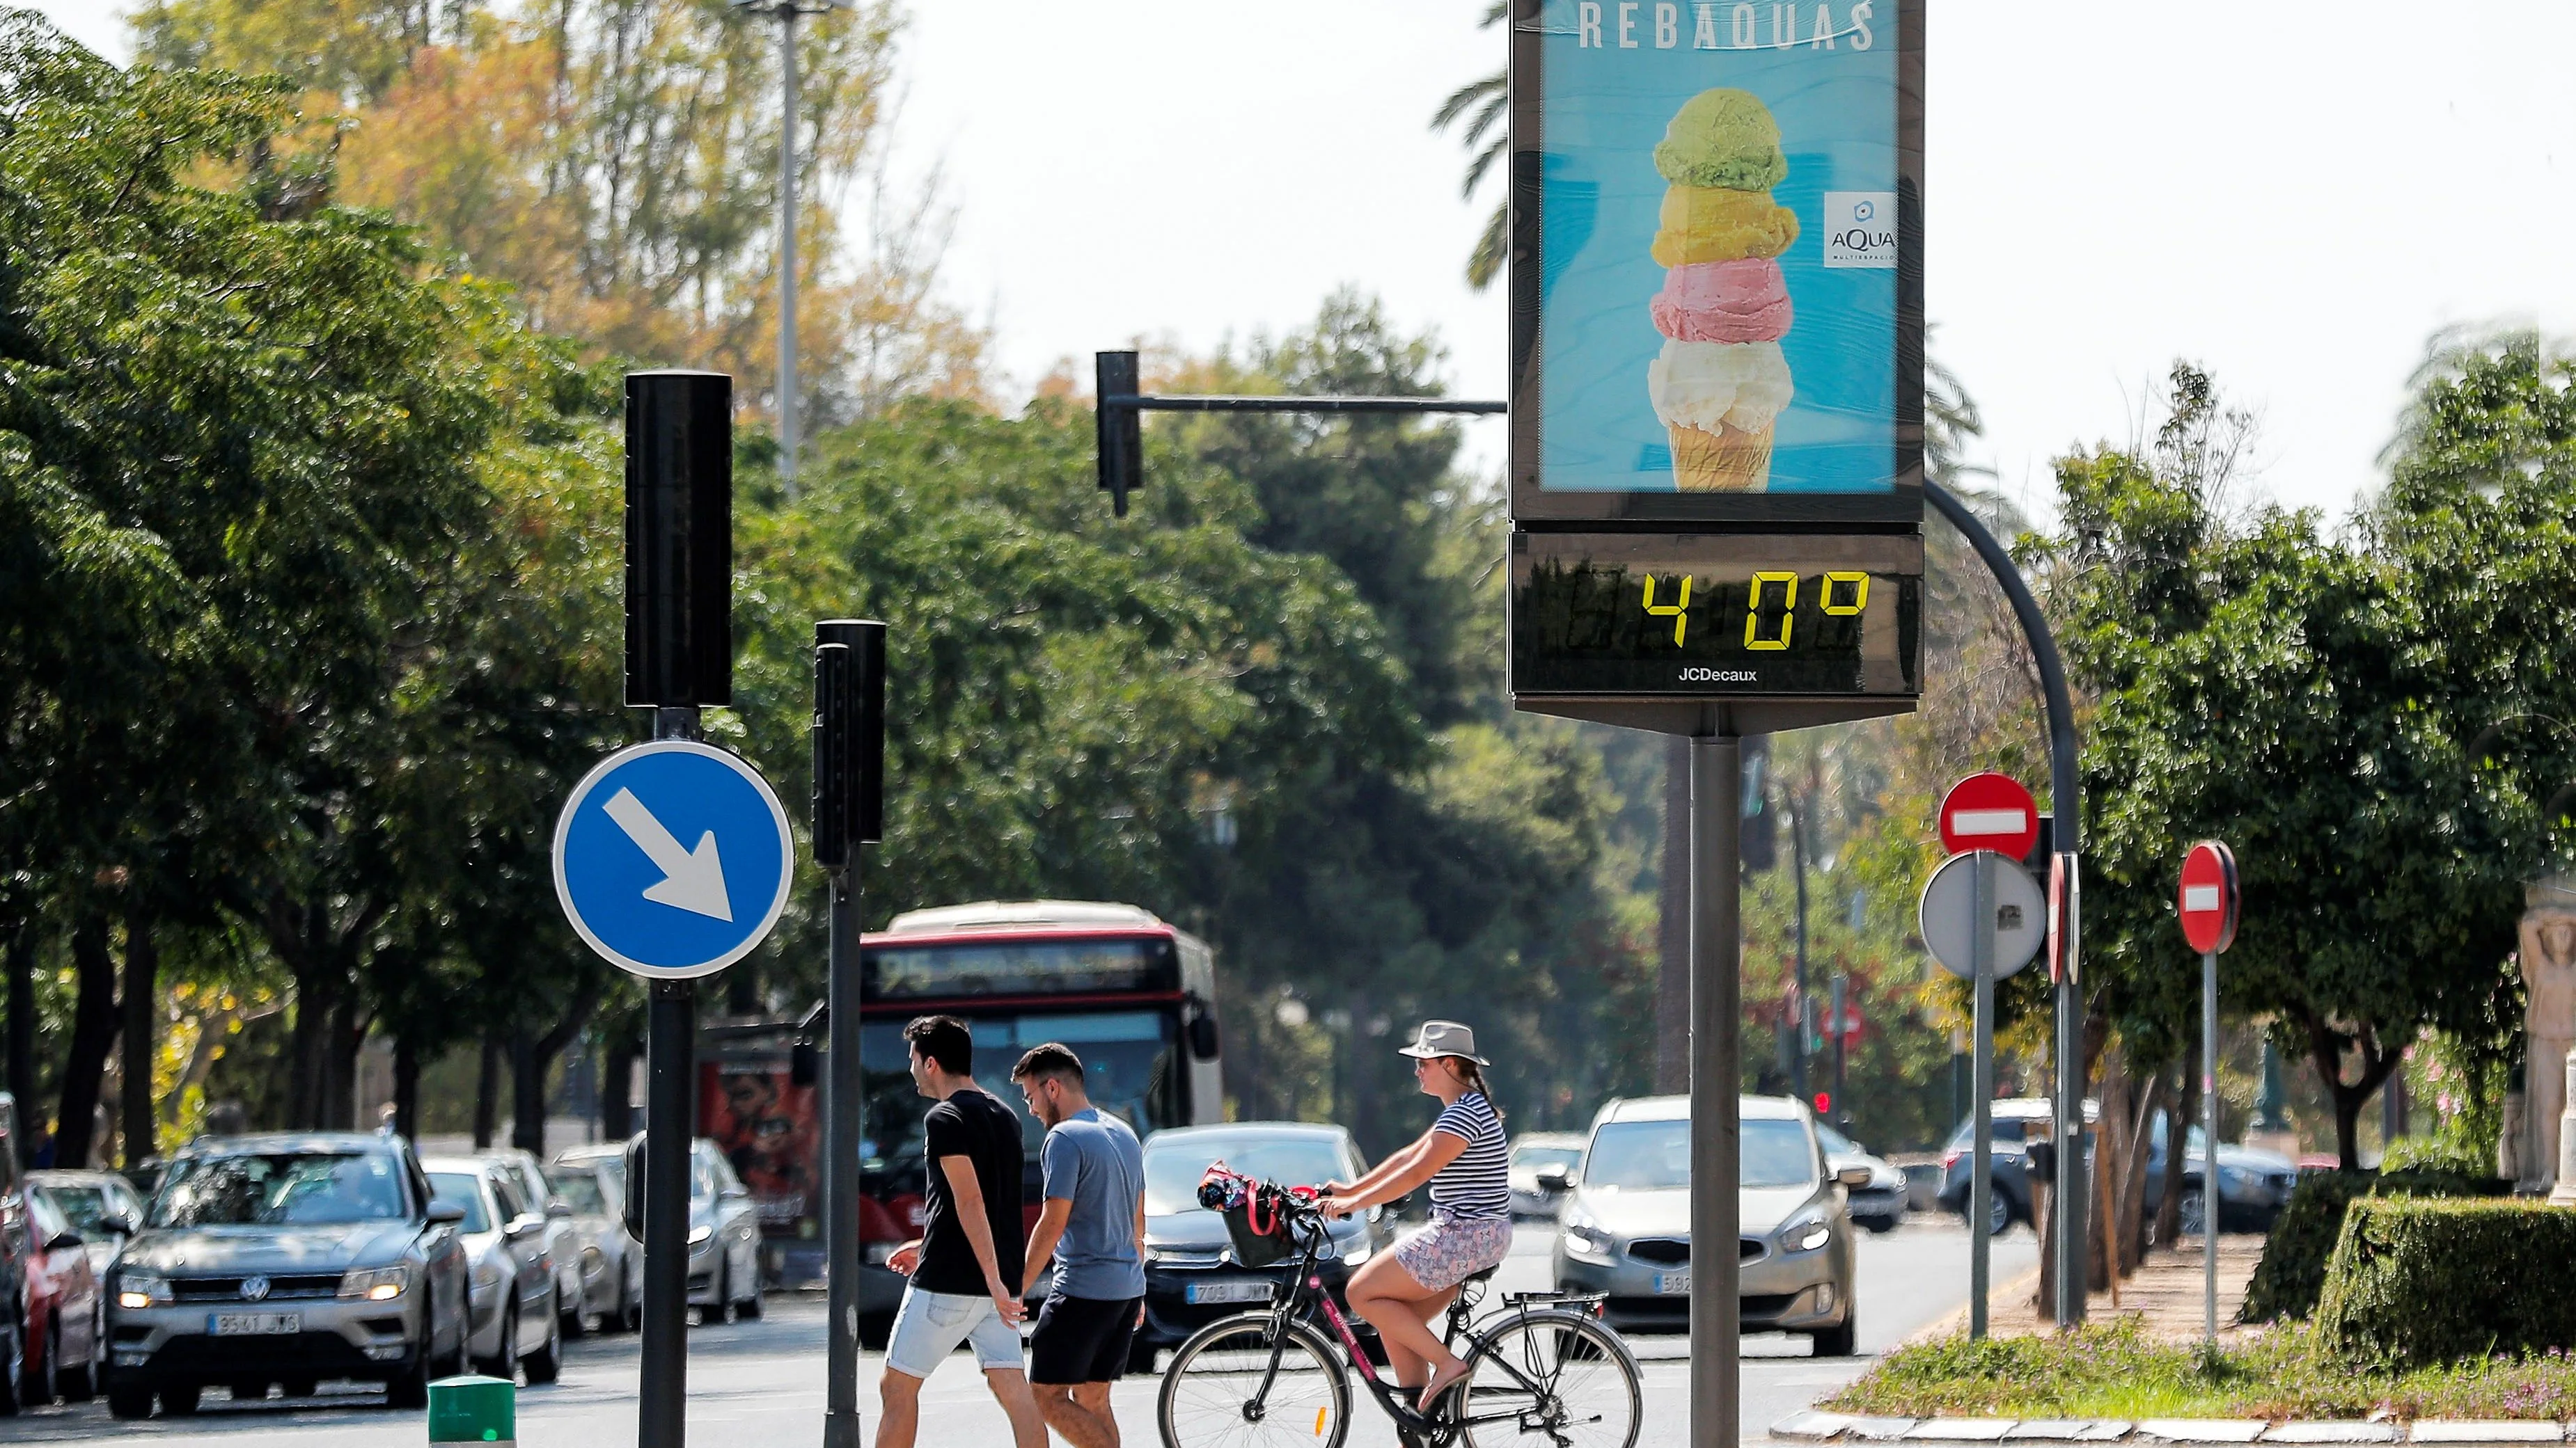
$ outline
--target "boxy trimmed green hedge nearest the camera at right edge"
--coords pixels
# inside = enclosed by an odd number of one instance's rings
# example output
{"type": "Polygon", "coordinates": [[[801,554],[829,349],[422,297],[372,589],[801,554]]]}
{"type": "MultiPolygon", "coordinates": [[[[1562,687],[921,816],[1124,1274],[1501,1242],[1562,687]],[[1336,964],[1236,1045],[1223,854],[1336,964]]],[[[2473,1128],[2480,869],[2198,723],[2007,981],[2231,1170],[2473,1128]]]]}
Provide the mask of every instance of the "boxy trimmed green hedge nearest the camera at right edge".
{"type": "Polygon", "coordinates": [[[2378,1196],[2344,1214],[2316,1337],[2354,1363],[2421,1368],[2576,1348],[2576,1211],[2378,1196]]]}

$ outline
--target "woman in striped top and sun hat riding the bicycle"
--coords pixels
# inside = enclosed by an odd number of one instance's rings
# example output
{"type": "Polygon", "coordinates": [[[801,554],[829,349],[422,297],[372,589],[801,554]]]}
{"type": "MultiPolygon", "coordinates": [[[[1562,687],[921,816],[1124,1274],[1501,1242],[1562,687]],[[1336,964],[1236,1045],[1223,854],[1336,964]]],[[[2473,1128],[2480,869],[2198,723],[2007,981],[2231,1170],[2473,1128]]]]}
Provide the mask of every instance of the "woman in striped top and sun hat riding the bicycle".
{"type": "Polygon", "coordinates": [[[1350,1309],[1378,1329],[1386,1363],[1406,1389],[1419,1386],[1422,1412],[1466,1376],[1466,1363],[1440,1345],[1430,1322],[1458,1296],[1458,1283],[1502,1265],[1512,1250],[1512,1188],[1502,1113],[1486,1100],[1476,1033],[1455,1020],[1425,1020],[1404,1054],[1414,1059],[1422,1095],[1443,1103],[1419,1141],[1378,1162],[1355,1183],[1324,1183],[1319,1203],[1350,1216],[1432,1185],[1432,1224],[1396,1242],[1342,1288],[1350,1309]]]}

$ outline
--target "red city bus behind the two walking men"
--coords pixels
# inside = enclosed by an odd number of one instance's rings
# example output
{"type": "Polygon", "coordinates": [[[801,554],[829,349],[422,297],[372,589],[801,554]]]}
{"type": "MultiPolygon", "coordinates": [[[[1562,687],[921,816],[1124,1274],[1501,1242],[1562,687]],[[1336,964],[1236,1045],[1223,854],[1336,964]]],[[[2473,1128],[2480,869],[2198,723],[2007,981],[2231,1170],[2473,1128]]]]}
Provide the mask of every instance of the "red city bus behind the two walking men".
{"type": "Polygon", "coordinates": [[[1133,904],[981,902],[896,915],[860,943],[860,1337],[881,1345],[904,1278],[894,1247],[920,1237],[922,1113],[904,1023],[956,1015],[974,1074],[1028,1139],[1025,1214],[1038,1219],[1043,1129],[1010,1085],[1020,1051],[1061,1041],[1082,1056],[1092,1105],[1139,1136],[1226,1118],[1218,1085],[1216,958],[1133,904]]]}

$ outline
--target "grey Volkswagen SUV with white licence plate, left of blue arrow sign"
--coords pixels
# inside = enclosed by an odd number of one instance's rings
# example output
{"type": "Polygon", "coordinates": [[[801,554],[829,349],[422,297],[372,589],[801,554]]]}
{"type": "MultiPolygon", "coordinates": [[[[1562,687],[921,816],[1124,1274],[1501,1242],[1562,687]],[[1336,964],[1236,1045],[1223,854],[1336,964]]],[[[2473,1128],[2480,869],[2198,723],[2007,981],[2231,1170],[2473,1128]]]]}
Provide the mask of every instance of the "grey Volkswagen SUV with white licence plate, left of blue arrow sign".
{"type": "Polygon", "coordinates": [[[196,1412],[206,1386],[291,1396],[322,1378],[425,1407],[464,1368],[461,1214],[399,1136],[312,1131],[183,1147],[116,1255],[108,1409],[196,1412]]]}

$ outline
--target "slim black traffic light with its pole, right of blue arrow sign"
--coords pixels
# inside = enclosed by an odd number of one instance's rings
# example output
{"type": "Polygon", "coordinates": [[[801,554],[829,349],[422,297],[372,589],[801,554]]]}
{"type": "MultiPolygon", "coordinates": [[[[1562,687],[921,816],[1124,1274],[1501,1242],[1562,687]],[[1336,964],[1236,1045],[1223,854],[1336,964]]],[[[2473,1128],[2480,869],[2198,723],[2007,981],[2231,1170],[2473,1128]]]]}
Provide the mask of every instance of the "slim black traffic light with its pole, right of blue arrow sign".
{"type": "Polygon", "coordinates": [[[832,873],[824,1092],[824,1448],[858,1448],[858,848],[886,835],[886,626],[814,624],[814,863],[832,873]]]}

